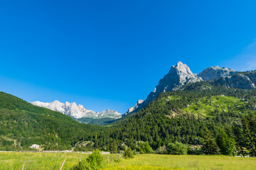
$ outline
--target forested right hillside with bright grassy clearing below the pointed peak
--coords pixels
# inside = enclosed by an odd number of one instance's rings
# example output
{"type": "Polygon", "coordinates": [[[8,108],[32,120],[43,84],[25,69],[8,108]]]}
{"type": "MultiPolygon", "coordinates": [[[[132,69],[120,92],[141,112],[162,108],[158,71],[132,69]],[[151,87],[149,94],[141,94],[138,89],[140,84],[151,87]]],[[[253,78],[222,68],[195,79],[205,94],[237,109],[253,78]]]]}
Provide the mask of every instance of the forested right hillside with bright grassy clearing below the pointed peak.
{"type": "MultiPolygon", "coordinates": [[[[175,142],[206,145],[208,138],[213,137],[216,142],[222,133],[235,148],[234,128],[244,128],[243,132],[239,131],[240,135],[255,134],[255,96],[255,90],[211,86],[208,82],[185,86],[183,91],[162,93],[146,108],[124,116],[112,128],[100,133],[95,147],[112,150],[124,142],[132,149],[138,149],[139,141],[149,142],[153,149],[175,142]],[[247,121],[250,121],[247,123],[250,132],[244,127],[247,121]]],[[[255,137],[247,139],[242,147],[255,146],[255,137]]]]}

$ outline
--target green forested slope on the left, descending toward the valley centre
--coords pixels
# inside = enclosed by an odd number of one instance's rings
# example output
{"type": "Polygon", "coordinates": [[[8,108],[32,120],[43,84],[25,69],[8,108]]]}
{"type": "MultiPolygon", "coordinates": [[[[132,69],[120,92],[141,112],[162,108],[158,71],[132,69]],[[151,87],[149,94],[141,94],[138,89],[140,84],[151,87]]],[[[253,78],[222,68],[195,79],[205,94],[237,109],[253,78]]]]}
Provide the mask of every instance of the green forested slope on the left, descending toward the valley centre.
{"type": "Polygon", "coordinates": [[[80,124],[63,113],[0,92],[0,149],[28,149],[33,144],[69,149],[97,130],[100,127],[80,124]]]}

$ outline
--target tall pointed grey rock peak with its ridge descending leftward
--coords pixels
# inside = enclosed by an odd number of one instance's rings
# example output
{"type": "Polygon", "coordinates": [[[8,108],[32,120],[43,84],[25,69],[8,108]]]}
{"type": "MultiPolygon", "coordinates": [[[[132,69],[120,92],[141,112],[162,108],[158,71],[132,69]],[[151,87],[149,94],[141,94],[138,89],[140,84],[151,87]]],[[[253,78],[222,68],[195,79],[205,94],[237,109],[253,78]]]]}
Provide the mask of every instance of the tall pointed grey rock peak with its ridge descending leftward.
{"type": "Polygon", "coordinates": [[[159,84],[156,86],[154,91],[147,96],[146,100],[139,100],[136,106],[128,109],[126,114],[137,112],[146,107],[147,104],[154,101],[161,92],[178,90],[181,86],[194,83],[196,81],[203,81],[203,79],[198,77],[197,74],[193,74],[186,64],[178,62],[176,66],[172,66],[169,73],[159,81],[159,84]]]}

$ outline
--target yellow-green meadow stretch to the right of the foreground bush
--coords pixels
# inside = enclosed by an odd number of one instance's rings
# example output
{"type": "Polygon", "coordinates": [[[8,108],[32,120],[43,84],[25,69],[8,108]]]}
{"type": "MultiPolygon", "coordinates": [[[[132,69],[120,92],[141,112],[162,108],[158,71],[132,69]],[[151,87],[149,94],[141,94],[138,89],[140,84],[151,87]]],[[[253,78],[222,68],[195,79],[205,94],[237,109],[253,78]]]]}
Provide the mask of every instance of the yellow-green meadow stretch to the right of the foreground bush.
{"type": "MultiPolygon", "coordinates": [[[[170,169],[256,169],[256,158],[238,158],[196,155],[140,154],[134,159],[122,159],[110,164],[110,169],[132,166],[165,167],[170,169]]],[[[107,169],[107,168],[106,168],[107,169]]]]}

